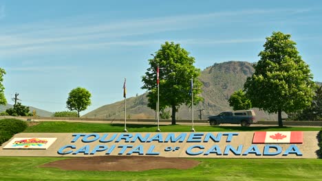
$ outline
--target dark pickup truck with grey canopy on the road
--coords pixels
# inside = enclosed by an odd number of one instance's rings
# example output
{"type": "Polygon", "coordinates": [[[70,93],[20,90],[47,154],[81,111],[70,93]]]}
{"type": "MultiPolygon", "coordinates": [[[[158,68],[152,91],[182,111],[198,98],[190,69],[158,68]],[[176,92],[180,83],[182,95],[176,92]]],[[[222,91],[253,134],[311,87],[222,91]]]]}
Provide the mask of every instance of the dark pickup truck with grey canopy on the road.
{"type": "Polygon", "coordinates": [[[240,124],[241,126],[249,126],[257,123],[254,110],[235,110],[221,112],[217,116],[208,117],[210,125],[219,125],[220,123],[240,124]]]}

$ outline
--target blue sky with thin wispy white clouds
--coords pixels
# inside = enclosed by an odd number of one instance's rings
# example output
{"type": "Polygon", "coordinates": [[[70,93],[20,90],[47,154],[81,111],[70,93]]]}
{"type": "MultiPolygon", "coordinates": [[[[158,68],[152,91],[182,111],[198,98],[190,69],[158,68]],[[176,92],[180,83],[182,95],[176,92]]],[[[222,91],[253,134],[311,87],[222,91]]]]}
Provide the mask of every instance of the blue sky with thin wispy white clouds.
{"type": "Polygon", "coordinates": [[[64,111],[78,86],[92,93],[81,114],[140,95],[151,53],[180,43],[203,70],[257,62],[272,32],[291,34],[314,81],[322,82],[322,1],[3,1],[0,67],[8,104],[64,111]]]}

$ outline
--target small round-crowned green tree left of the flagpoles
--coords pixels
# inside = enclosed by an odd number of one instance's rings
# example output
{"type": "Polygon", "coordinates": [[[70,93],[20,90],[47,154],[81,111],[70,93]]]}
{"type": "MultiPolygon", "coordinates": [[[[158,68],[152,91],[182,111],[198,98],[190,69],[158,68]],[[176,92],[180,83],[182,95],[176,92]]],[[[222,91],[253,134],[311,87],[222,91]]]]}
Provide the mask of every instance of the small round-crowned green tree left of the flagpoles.
{"type": "Polygon", "coordinates": [[[86,110],[88,106],[92,104],[91,93],[86,88],[77,87],[70,91],[66,101],[67,108],[69,110],[76,110],[77,117],[79,112],[86,110]]]}

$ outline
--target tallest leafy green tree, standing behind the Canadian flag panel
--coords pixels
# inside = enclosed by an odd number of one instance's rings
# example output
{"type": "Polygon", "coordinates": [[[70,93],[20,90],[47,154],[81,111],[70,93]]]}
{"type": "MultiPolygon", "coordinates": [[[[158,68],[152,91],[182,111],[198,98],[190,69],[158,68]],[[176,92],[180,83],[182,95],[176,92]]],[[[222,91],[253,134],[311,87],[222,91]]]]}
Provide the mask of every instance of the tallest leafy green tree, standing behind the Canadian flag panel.
{"type": "Polygon", "coordinates": [[[273,32],[259,53],[255,73],[244,84],[254,107],[278,113],[279,126],[283,126],[282,111],[306,108],[314,95],[313,75],[295,45],[290,34],[273,32]]]}

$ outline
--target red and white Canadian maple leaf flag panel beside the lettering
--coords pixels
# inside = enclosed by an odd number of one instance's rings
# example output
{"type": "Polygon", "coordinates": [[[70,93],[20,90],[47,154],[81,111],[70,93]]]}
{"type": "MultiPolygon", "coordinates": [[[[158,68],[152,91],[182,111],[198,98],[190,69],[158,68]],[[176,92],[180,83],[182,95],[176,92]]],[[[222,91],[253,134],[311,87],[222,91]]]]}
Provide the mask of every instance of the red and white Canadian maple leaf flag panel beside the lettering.
{"type": "Polygon", "coordinates": [[[303,132],[255,132],[253,143],[303,143],[303,132]]]}

